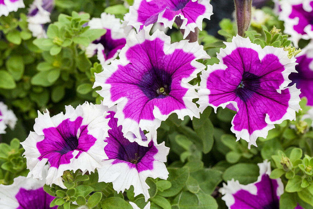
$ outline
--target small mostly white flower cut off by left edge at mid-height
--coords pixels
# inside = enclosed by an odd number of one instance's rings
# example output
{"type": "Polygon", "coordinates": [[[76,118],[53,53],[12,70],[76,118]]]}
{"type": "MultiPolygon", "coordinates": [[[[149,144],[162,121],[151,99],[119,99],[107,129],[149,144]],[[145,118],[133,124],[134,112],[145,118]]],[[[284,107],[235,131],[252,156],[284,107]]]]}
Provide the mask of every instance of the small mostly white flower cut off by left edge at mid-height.
{"type": "Polygon", "coordinates": [[[7,126],[14,129],[17,120],[14,112],[9,110],[3,102],[0,102],[0,134],[6,133],[7,126]]]}

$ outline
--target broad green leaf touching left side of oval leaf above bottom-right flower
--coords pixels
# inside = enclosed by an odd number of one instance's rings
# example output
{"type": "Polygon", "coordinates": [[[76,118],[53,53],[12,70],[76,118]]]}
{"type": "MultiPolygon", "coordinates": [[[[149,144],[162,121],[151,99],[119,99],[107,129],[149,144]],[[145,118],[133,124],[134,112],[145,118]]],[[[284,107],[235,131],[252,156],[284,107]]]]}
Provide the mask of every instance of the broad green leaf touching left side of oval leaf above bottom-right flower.
{"type": "Polygon", "coordinates": [[[192,172],[190,175],[198,181],[201,191],[211,195],[216,186],[222,181],[222,171],[216,169],[203,169],[192,172]]]}

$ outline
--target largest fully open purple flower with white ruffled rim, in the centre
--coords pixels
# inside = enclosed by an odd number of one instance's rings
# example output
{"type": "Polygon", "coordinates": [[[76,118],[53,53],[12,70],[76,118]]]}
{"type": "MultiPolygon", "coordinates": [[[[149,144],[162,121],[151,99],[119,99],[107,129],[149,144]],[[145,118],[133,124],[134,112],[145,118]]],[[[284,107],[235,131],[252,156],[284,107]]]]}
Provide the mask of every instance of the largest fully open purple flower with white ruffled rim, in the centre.
{"type": "Polygon", "coordinates": [[[172,113],[183,119],[199,117],[192,99],[198,98],[196,86],[188,82],[205,66],[197,59],[209,58],[198,43],[182,40],[171,44],[170,37],[157,30],[131,33],[126,46],[104,71],[95,74],[94,88],[104,104],[117,104],[116,117],[123,132],[141,138],[140,129],[156,130],[172,113]]]}

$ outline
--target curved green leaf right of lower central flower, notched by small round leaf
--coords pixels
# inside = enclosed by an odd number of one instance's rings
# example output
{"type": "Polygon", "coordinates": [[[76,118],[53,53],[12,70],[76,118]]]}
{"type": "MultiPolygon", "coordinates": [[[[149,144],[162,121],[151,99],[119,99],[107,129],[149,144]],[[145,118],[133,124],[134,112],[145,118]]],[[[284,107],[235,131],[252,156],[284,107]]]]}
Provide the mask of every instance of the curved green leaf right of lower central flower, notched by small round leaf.
{"type": "Polygon", "coordinates": [[[172,197],[177,195],[180,190],[184,187],[188,177],[189,177],[189,170],[188,168],[168,168],[169,172],[168,181],[171,182],[171,188],[159,191],[158,194],[164,197],[172,197]]]}

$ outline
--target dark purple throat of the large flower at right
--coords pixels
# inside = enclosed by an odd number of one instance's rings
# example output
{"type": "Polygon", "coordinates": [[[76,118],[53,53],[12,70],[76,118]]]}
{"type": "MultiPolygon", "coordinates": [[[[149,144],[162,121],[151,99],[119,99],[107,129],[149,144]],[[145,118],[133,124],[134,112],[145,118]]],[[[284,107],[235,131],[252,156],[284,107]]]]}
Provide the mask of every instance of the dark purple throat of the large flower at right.
{"type": "Polygon", "coordinates": [[[260,88],[260,78],[250,72],[244,72],[242,80],[239,83],[236,95],[243,101],[251,98],[255,92],[260,88]]]}

